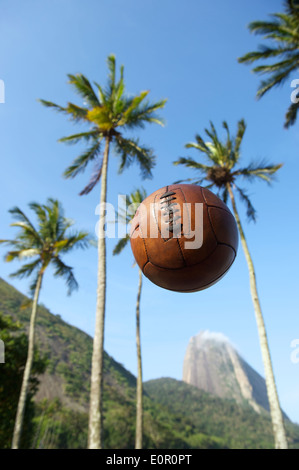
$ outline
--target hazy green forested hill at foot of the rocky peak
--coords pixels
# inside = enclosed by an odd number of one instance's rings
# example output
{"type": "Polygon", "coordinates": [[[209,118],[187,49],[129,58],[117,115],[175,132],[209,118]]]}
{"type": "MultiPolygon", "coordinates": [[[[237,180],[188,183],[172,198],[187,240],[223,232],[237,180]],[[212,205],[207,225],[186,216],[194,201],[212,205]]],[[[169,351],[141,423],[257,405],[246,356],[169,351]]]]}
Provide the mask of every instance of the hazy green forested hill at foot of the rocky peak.
{"type": "MultiPolygon", "coordinates": [[[[229,448],[271,448],[269,414],[223,400],[185,382],[164,378],[145,383],[145,390],[171,413],[192,420],[197,432],[213,435],[229,448]]],[[[290,447],[299,448],[299,427],[286,421],[290,447]]]]}

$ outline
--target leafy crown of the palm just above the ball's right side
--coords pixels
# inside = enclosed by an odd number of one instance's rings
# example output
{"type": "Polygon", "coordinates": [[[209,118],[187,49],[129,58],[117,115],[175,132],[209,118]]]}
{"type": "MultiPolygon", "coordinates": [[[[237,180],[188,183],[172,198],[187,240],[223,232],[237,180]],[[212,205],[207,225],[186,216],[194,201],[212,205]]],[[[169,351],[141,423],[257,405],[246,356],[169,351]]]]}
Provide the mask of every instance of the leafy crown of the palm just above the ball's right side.
{"type": "Polygon", "coordinates": [[[251,204],[249,197],[244,189],[237,185],[237,180],[241,177],[247,181],[252,181],[255,178],[262,179],[270,183],[273,179],[274,173],[281,168],[281,164],[267,165],[265,162],[250,163],[247,167],[239,167],[240,160],[240,147],[246,124],[243,119],[238,122],[238,129],[236,137],[231,137],[230,131],[226,121],[223,122],[223,127],[226,130],[226,140],[222,142],[217,135],[213,123],[210,123],[211,129],[205,129],[209,141],[205,142],[200,135],[196,135],[196,142],[186,144],[186,148],[195,148],[203,153],[207,158],[207,164],[195,161],[191,157],[181,157],[174,162],[175,165],[185,165],[198,171],[199,176],[189,178],[185,181],[191,181],[194,184],[207,183],[208,188],[215,187],[218,195],[227,202],[229,189],[228,186],[233,187],[238,191],[241,199],[247,206],[247,216],[251,220],[255,220],[256,211],[251,204]]]}

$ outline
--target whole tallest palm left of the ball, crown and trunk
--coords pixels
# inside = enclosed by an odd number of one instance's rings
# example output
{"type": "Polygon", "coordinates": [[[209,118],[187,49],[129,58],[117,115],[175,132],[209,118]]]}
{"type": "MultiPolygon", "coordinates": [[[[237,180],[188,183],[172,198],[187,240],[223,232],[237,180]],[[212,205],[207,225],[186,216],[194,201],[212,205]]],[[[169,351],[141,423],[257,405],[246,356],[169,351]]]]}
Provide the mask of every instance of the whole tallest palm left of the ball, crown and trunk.
{"type": "Polygon", "coordinates": [[[87,186],[80,195],[88,194],[101,181],[100,195],[100,224],[98,231],[98,282],[96,325],[93,343],[89,437],[88,447],[98,449],[103,447],[102,438],[102,397],[103,397],[103,354],[104,354],[104,323],[106,301],[106,240],[104,230],[105,203],[107,201],[107,168],[110,147],[120,157],[119,172],[136,161],[142,177],[151,177],[155,163],[153,151],[139,144],[138,139],[125,137],[124,132],[143,128],[146,123],[162,125],[162,120],[156,111],[163,108],[166,100],[150,104],[145,101],[148,91],[136,96],[125,94],[124,67],[120,68],[120,78],[116,81],[115,57],[108,57],[108,84],[102,88],[98,83],[94,87],[82,74],[68,75],[69,83],[84,100],[84,106],[68,103],[66,107],[49,101],[41,103],[53,107],[70,117],[75,122],[87,124],[89,130],[60,139],[61,142],[76,143],[85,141],[89,147],[77,157],[66,169],[64,176],[74,178],[86,169],[88,163],[94,163],[94,171],[87,186]],[[102,152],[102,144],[104,150],[102,152]],[[102,158],[101,158],[102,154],[102,158]]]}

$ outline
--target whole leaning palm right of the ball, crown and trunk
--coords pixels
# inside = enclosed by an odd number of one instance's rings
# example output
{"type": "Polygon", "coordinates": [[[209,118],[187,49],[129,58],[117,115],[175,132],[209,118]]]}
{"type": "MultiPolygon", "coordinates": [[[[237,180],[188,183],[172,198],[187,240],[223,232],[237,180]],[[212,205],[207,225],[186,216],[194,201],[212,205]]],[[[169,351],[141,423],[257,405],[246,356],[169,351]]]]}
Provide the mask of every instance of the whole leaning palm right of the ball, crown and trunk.
{"type": "Polygon", "coordinates": [[[260,162],[259,164],[250,163],[247,167],[239,167],[240,147],[246,129],[244,120],[242,119],[238,122],[238,130],[235,138],[231,138],[228,125],[226,122],[223,122],[223,127],[227,134],[225,142],[221,142],[221,140],[219,140],[213,123],[210,123],[210,126],[210,130],[205,130],[210,139],[209,142],[205,142],[199,135],[196,135],[196,142],[186,144],[186,148],[194,148],[205,154],[207,157],[207,164],[195,161],[190,157],[179,158],[174,162],[174,164],[185,165],[197,170],[199,178],[191,178],[188,181],[193,181],[195,184],[203,184],[204,182],[207,182],[208,188],[216,187],[218,195],[224,202],[227,202],[228,198],[230,198],[249,270],[250,291],[254,305],[265,369],[275,446],[276,448],[284,449],[287,448],[287,440],[275,385],[264,319],[257,291],[256,275],[234,196],[234,192],[237,192],[241,200],[246,204],[248,218],[255,221],[256,211],[244,189],[240,188],[236,182],[240,178],[244,178],[247,181],[253,181],[255,178],[259,178],[270,183],[273,180],[274,174],[282,165],[267,165],[264,162],[260,162]]]}

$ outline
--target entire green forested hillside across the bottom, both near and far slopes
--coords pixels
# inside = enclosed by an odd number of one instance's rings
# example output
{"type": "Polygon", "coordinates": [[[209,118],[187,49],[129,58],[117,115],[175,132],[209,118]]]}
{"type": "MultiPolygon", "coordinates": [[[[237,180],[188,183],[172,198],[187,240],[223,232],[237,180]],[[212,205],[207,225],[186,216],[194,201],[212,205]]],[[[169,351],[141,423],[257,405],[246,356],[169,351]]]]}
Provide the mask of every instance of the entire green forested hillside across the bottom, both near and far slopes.
{"type": "MultiPolygon", "coordinates": [[[[0,279],[0,313],[28,326],[30,308],[20,292],[0,279]]],[[[48,358],[39,377],[32,426],[25,442],[32,448],[85,448],[92,338],[40,306],[37,345],[48,358]]],[[[0,364],[1,374],[5,373],[0,364]],[[2,368],[2,369],[1,369],[2,368]]],[[[136,378],[105,355],[104,445],[134,448],[136,378]]],[[[145,448],[270,448],[267,413],[215,398],[173,379],[145,383],[145,448]]],[[[29,431],[28,431],[29,432],[29,431]]],[[[299,427],[288,424],[290,444],[299,447],[299,427]]]]}

